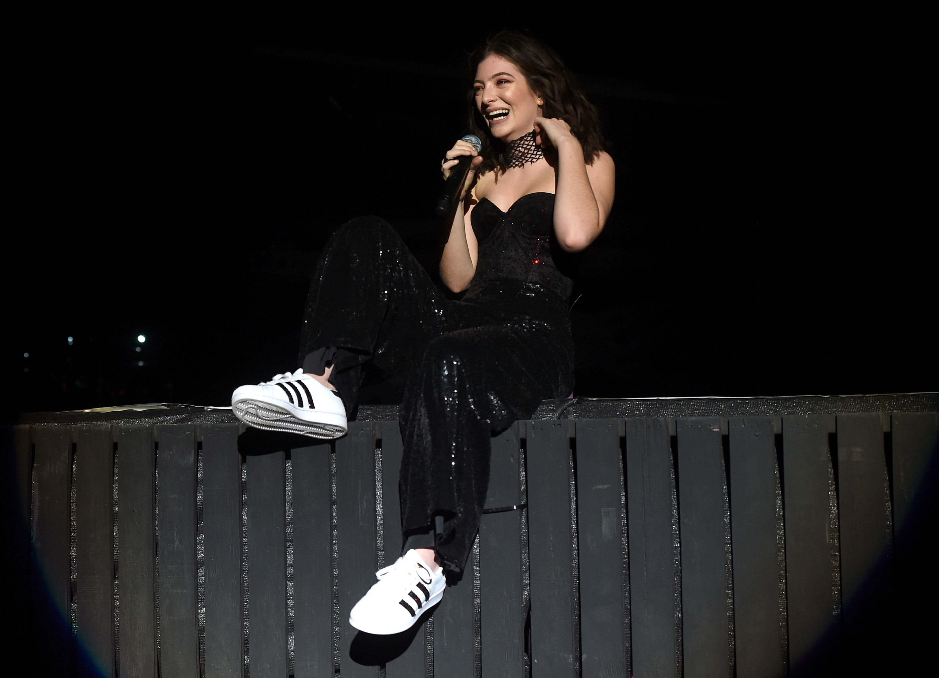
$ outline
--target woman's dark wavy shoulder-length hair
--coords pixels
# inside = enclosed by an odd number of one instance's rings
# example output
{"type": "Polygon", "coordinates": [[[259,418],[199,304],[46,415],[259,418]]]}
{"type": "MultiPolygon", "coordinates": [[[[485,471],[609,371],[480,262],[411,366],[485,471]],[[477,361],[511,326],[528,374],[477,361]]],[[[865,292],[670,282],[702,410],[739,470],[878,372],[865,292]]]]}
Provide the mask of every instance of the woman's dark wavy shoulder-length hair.
{"type": "MultiPolygon", "coordinates": [[[[606,142],[600,131],[600,115],[596,107],[577,86],[574,73],[564,66],[561,57],[528,33],[501,30],[469,54],[469,80],[476,78],[476,68],[487,56],[496,54],[515,64],[531,90],[545,100],[542,107],[547,118],[561,118],[584,149],[584,162],[593,164],[606,142]]],[[[483,114],[476,108],[473,88],[469,89],[469,130],[483,142],[483,164],[476,176],[490,170],[504,173],[508,169],[505,143],[492,136],[483,114]]]]}

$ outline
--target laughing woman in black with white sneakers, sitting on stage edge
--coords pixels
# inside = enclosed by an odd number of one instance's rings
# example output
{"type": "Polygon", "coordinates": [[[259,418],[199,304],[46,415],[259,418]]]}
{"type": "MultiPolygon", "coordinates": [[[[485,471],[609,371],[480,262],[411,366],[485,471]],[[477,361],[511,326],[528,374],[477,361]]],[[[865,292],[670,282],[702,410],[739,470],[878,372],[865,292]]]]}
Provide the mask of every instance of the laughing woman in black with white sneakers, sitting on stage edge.
{"type": "Polygon", "coordinates": [[[596,109],[550,49],[503,31],[470,57],[469,126],[442,162],[472,165],[440,259],[448,300],[384,220],[355,218],[323,250],[307,299],[302,367],[239,387],[235,414],[260,428],[346,433],[374,360],[405,383],[400,426],[397,562],[351,610],[374,634],[408,629],[459,575],[479,530],[491,436],[574,384],[571,280],[552,253],[600,234],[613,203],[613,161],[596,109]]]}

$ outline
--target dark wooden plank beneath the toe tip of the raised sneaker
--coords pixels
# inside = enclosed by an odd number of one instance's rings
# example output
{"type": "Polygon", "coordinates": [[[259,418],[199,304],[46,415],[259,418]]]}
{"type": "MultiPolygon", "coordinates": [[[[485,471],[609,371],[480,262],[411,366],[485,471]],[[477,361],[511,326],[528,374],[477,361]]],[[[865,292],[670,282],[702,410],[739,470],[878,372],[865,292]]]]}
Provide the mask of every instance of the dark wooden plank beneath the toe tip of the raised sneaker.
{"type": "Polygon", "coordinates": [[[238,425],[204,425],[197,433],[202,440],[206,678],[225,678],[238,675],[243,664],[238,425]]]}

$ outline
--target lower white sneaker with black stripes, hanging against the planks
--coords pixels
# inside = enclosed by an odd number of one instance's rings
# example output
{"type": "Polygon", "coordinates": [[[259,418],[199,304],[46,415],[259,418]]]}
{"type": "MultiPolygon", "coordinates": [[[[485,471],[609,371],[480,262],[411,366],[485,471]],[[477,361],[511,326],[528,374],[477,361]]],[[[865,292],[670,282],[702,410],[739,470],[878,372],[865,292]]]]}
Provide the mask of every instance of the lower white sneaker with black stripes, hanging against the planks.
{"type": "Polygon", "coordinates": [[[378,583],[352,608],[349,624],[379,636],[407,631],[424,608],[440,602],[447,586],[443,568],[431,572],[413,549],[375,574],[378,583]]]}

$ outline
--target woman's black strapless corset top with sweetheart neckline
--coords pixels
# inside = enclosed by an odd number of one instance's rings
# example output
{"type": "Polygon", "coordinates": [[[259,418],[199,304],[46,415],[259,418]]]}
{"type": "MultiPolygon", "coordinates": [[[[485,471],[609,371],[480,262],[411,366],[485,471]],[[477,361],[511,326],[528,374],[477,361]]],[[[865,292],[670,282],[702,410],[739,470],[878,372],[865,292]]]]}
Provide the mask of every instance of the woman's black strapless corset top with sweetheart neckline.
{"type": "Polygon", "coordinates": [[[469,220],[479,243],[479,259],[468,294],[488,283],[508,280],[545,288],[565,303],[570,300],[574,283],[558,270],[552,255],[559,247],[554,235],[554,193],[523,195],[508,212],[484,198],[469,220]]]}

